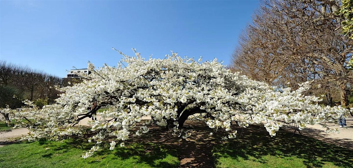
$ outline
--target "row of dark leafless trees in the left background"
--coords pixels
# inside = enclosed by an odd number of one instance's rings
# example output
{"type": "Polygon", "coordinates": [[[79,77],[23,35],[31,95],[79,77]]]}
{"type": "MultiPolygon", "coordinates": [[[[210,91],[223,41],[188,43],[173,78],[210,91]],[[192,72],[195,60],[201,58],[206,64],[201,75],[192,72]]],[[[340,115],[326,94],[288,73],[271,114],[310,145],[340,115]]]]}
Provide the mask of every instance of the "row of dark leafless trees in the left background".
{"type": "MultiPolygon", "coordinates": [[[[58,94],[55,89],[61,86],[62,79],[26,66],[0,61],[0,109],[18,108],[24,99],[35,100],[38,107],[54,102],[58,94]],[[15,95],[15,97],[14,97],[15,95]]],[[[8,113],[0,110],[8,119],[8,113]]]]}

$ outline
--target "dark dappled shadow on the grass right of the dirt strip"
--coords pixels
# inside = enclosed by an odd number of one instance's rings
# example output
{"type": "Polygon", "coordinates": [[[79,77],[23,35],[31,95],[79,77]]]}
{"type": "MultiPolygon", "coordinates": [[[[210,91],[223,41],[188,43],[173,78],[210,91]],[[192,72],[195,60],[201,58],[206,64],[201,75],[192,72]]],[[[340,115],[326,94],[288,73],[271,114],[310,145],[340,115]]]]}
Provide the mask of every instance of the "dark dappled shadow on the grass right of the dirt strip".
{"type": "Polygon", "coordinates": [[[324,162],[331,162],[339,167],[353,167],[353,150],[306,136],[292,136],[292,133],[287,132],[278,132],[275,137],[270,137],[258,131],[262,129],[260,126],[249,127],[242,137],[218,144],[213,150],[216,164],[220,157],[231,157],[237,161],[255,157],[257,162],[265,163],[263,156],[270,155],[301,158],[306,167],[323,167],[324,162]]]}

